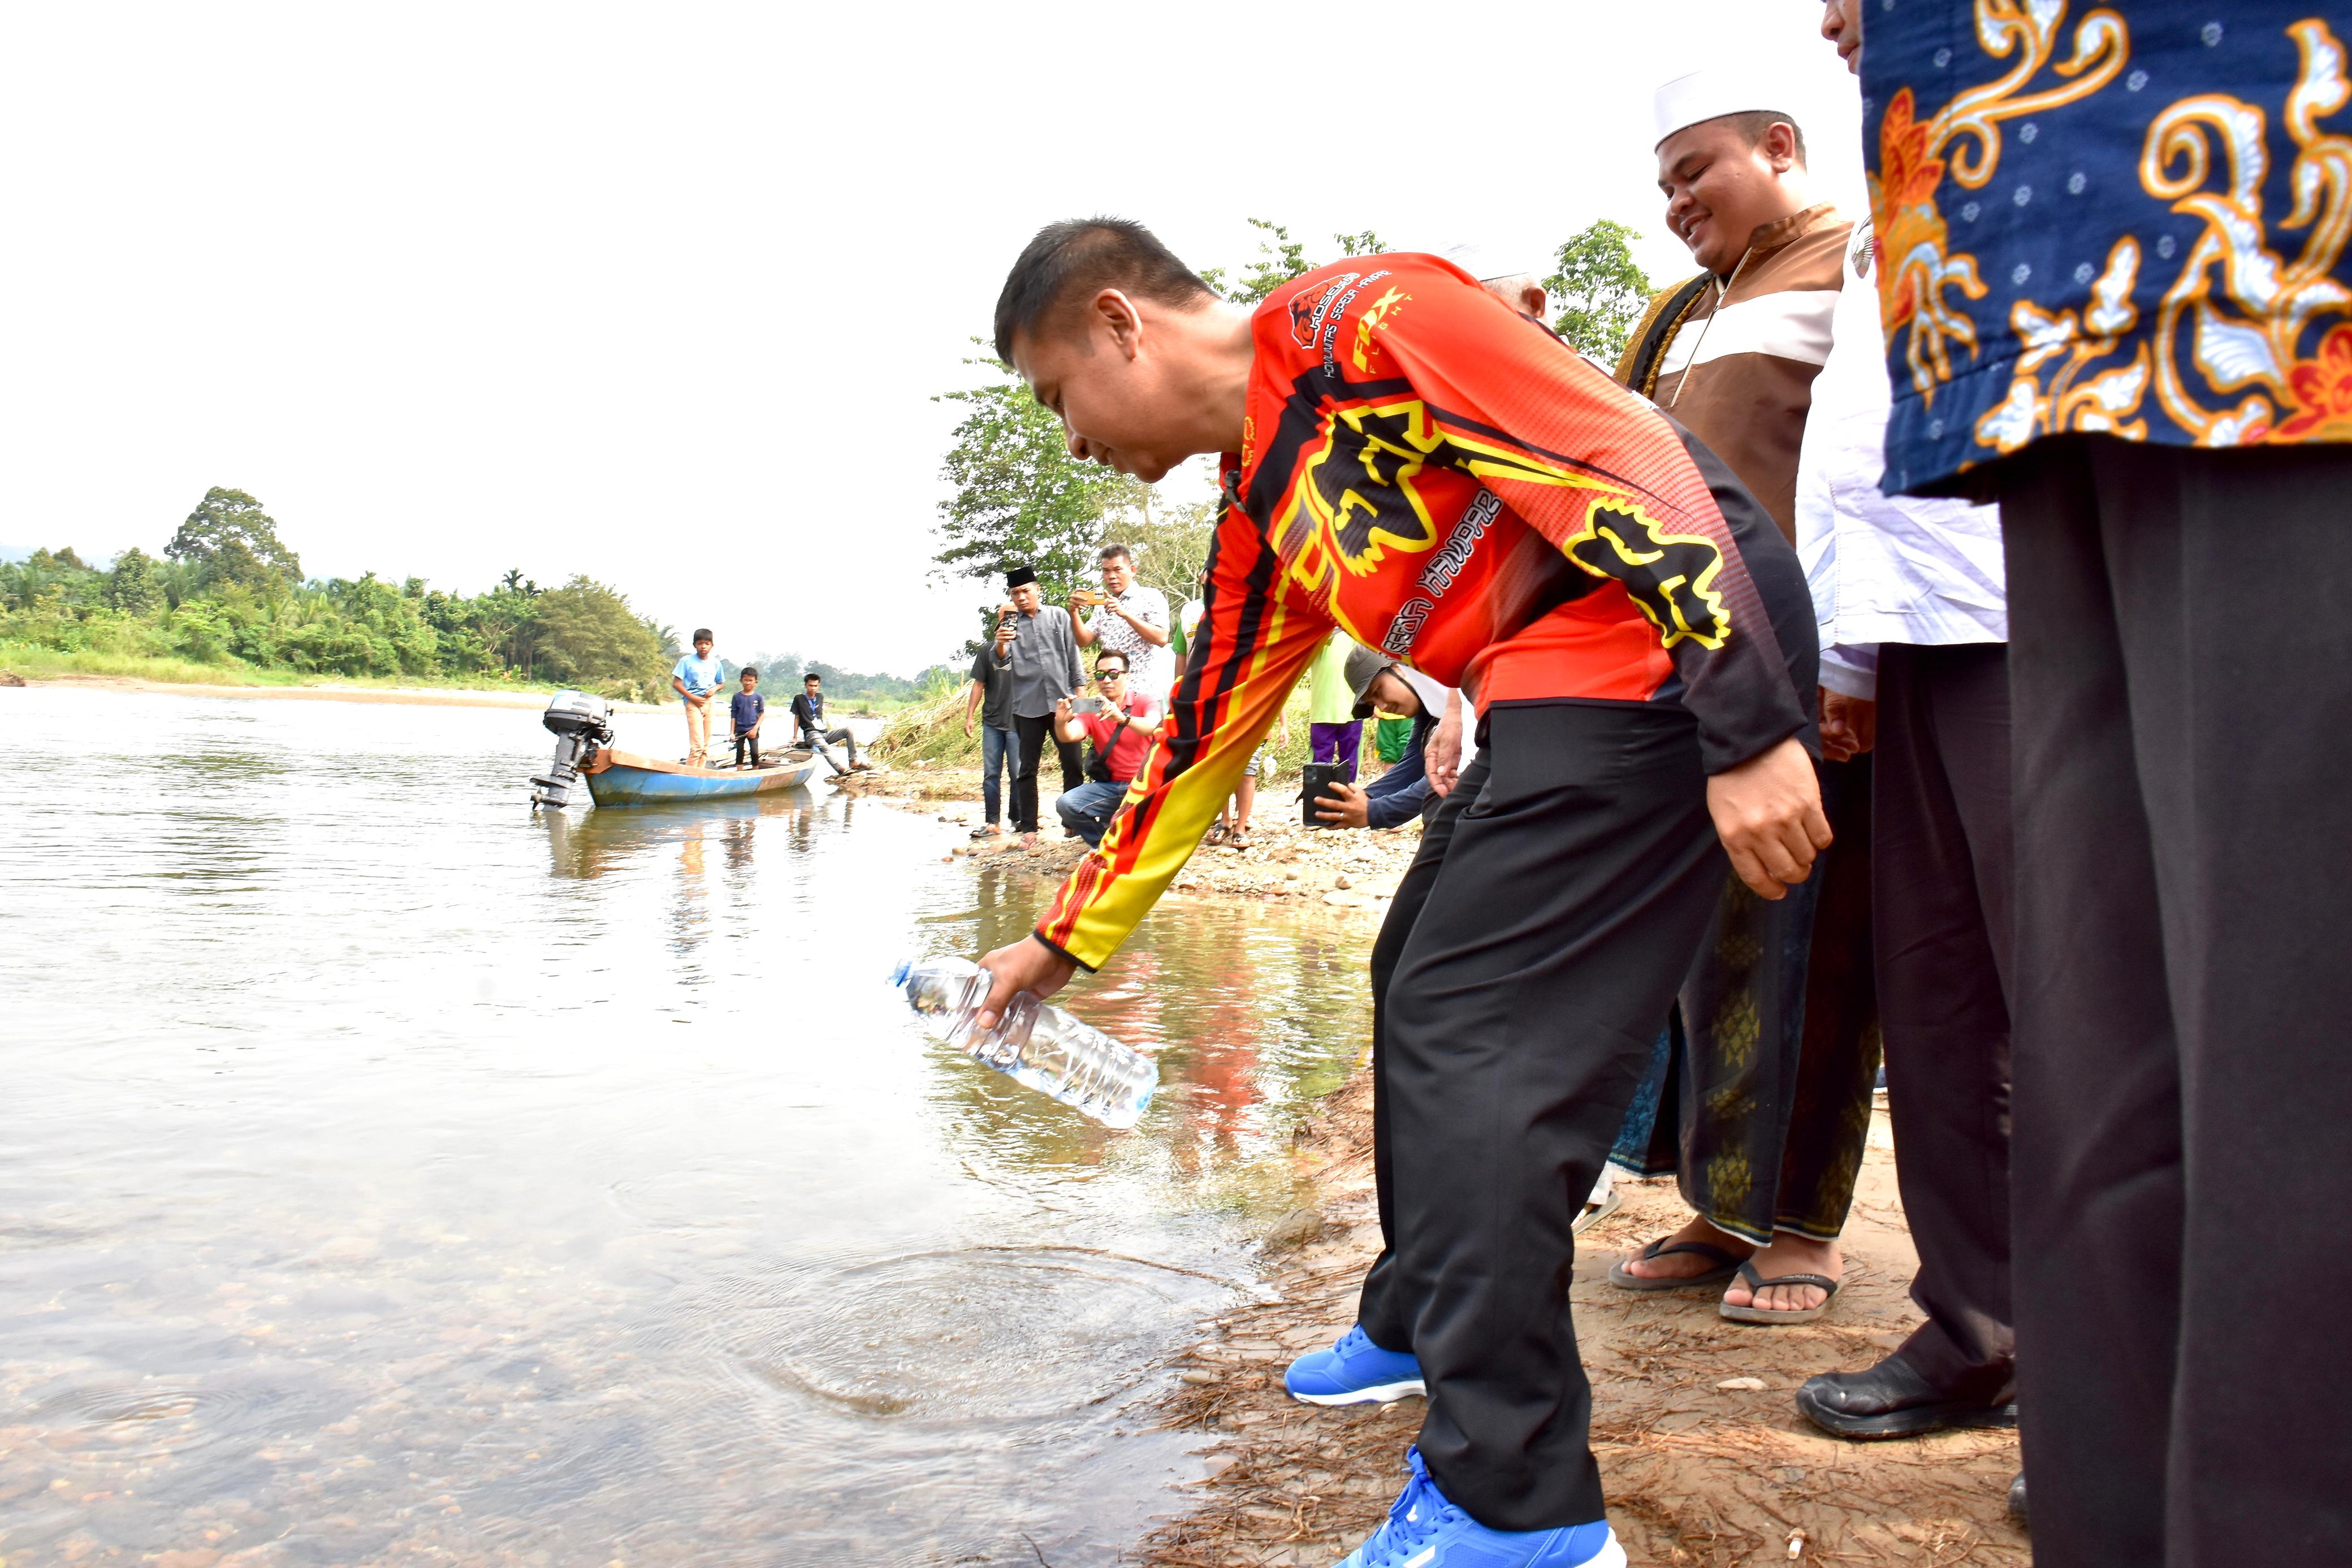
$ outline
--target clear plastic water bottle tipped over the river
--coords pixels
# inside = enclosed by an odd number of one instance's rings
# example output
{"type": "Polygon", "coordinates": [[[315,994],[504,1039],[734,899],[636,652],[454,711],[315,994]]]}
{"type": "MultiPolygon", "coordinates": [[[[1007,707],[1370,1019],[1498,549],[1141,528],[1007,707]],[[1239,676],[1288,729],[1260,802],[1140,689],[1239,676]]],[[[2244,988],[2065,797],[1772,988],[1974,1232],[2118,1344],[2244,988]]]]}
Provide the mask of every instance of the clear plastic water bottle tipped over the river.
{"type": "Polygon", "coordinates": [[[906,961],[889,983],[906,992],[934,1039],[1103,1126],[1134,1126],[1160,1088],[1152,1058],[1030,992],[1011,999],[995,1030],[974,1032],[971,1018],[988,999],[988,971],[969,959],[906,961]]]}

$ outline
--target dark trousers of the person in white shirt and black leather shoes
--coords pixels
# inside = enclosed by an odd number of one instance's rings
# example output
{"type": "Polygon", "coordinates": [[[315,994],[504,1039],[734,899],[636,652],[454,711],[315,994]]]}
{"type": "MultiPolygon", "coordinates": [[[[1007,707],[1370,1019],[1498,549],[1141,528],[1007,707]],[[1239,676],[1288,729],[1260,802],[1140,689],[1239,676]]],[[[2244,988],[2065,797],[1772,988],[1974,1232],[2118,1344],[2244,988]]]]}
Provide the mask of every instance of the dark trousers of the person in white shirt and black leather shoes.
{"type": "Polygon", "coordinates": [[[2009,1305],[2009,646],[1879,649],[1872,898],[1896,1182],[1926,1321],[1896,1352],[1955,1399],[2016,1375],[2009,1305]]]}

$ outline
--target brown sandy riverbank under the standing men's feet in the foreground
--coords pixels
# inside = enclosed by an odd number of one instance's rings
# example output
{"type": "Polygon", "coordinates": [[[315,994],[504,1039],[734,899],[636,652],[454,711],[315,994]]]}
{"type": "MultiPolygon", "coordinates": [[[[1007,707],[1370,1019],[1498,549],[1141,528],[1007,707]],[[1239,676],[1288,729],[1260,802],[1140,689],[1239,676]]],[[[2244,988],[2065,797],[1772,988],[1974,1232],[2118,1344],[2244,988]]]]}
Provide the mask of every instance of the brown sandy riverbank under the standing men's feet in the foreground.
{"type": "MultiPolygon", "coordinates": [[[[1282,1394],[1289,1359],[1355,1319],[1355,1291],[1378,1253],[1369,1074],[1331,1095],[1301,1157],[1319,1206],[1277,1227],[1270,1246],[1282,1232],[1315,1239],[1268,1258],[1272,1302],[1209,1324],[1178,1356],[1164,1420],[1200,1432],[1214,1474],[1138,1561],[1322,1568],[1378,1528],[1402,1486],[1423,1401],[1319,1410],[1282,1394]]],[[[1905,1295],[1917,1255],[1884,1110],[1846,1225],[1846,1286],[1816,1324],[1726,1324],[1717,1291],[1613,1288],[1616,1258],[1686,1218],[1670,1180],[1621,1178],[1618,1192],[1625,1208],[1583,1237],[1571,1300],[1609,1516],[1637,1568],[2030,1563],[2027,1537],[2004,1514],[2013,1432],[1842,1443],[1790,1403],[1809,1375],[1867,1366],[1919,1321],[1905,1295]]]]}

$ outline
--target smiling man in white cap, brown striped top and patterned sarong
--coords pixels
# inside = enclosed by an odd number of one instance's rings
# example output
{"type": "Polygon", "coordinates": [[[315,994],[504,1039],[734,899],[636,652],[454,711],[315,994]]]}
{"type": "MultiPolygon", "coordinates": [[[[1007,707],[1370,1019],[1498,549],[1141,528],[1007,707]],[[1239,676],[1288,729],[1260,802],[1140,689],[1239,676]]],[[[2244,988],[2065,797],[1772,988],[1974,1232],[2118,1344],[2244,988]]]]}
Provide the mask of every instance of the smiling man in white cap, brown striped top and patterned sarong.
{"type": "MultiPolygon", "coordinates": [[[[1773,94],[1738,71],[1658,89],[1665,221],[1700,273],[1651,301],[1618,376],[1717,451],[1795,538],[1797,451],[1853,226],[1813,200],[1804,132],[1773,94]]],[[[1698,1218],[1611,1281],[1726,1281],[1724,1316],[1755,1324],[1818,1316],[1837,1291],[1879,1053],[1870,764],[1851,759],[1844,698],[1823,701],[1820,792],[1837,849],[1783,903],[1729,889],[1682,990],[1679,1063],[1653,1067],[1658,1114],[1621,1145],[1642,1171],[1679,1173],[1698,1218]]]]}

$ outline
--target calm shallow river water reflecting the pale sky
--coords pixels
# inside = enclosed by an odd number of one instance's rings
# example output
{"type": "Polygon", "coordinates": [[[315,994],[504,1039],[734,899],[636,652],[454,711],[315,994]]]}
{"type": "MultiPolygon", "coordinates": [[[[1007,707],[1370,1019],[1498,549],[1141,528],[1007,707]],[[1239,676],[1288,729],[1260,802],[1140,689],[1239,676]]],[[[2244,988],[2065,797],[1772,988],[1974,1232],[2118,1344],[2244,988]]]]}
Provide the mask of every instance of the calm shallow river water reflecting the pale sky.
{"type": "Polygon", "coordinates": [[[546,750],[0,691],[0,1559],[1115,1561],[1369,933],[1152,914],[1073,987],[1162,1048],[1105,1133],[884,985],[1047,886],[826,788],[534,818],[546,750]]]}

